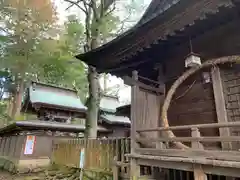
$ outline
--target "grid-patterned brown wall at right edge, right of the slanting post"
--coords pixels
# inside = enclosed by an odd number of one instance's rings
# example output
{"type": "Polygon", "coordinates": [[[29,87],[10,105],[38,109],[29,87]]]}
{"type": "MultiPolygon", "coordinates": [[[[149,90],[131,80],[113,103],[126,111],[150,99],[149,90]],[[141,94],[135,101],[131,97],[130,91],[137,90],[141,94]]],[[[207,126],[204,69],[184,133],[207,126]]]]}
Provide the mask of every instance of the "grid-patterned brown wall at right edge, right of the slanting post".
{"type": "MultiPolygon", "coordinates": [[[[240,66],[233,65],[221,70],[226,101],[228,121],[240,121],[240,66]]],[[[231,135],[240,136],[239,128],[231,128],[231,135]]],[[[240,148],[240,142],[234,142],[233,149],[240,148]]]]}

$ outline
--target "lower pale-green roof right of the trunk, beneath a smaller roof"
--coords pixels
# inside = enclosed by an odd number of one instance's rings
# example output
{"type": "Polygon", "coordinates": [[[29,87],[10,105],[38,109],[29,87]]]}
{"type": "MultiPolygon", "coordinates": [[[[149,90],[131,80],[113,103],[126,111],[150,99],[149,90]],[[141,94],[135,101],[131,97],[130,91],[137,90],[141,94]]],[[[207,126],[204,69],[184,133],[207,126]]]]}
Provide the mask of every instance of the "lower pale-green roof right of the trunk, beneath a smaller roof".
{"type": "Polygon", "coordinates": [[[100,115],[100,119],[108,124],[127,124],[127,125],[131,124],[131,121],[128,117],[117,116],[114,114],[102,114],[100,115]]]}

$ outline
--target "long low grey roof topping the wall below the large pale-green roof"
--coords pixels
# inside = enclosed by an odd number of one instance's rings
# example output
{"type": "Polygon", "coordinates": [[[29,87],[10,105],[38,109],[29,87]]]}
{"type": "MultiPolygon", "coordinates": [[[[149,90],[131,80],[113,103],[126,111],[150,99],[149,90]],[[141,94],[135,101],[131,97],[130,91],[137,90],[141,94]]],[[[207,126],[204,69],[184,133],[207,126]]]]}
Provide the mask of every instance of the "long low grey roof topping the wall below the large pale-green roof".
{"type": "MultiPolygon", "coordinates": [[[[48,121],[17,121],[0,129],[0,135],[16,133],[21,131],[46,130],[60,132],[84,132],[84,125],[65,124],[48,121]]],[[[108,132],[109,130],[98,126],[99,132],[108,132]]]]}

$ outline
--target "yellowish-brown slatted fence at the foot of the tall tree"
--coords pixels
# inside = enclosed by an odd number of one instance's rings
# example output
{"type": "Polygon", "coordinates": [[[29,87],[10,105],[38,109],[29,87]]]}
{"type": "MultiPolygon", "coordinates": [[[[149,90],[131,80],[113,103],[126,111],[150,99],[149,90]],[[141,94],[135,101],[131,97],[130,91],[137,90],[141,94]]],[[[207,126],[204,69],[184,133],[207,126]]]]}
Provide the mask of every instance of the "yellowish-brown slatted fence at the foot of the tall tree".
{"type": "MultiPolygon", "coordinates": [[[[58,141],[53,150],[52,161],[59,165],[79,167],[80,151],[85,148],[84,169],[112,172],[113,162],[127,161],[130,153],[130,139],[73,139],[58,141]],[[87,146],[86,146],[87,144],[87,146]]],[[[126,172],[124,168],[121,172],[126,172]]]]}

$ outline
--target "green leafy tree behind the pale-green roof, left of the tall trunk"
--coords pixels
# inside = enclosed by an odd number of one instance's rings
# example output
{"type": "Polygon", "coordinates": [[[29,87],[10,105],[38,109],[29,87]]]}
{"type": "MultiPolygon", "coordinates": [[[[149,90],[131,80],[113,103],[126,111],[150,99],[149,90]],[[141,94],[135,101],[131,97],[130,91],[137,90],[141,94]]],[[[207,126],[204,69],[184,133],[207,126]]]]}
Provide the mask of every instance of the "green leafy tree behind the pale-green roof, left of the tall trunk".
{"type": "Polygon", "coordinates": [[[43,51],[48,52],[47,61],[42,66],[39,79],[49,84],[74,88],[79,92],[82,100],[87,94],[86,67],[82,62],[73,58],[76,53],[82,51],[84,40],[84,28],[80,20],[75,15],[70,15],[64,24],[64,31],[58,40],[51,40],[54,47],[49,49],[42,45],[43,51]]]}

